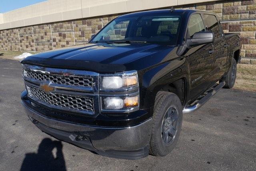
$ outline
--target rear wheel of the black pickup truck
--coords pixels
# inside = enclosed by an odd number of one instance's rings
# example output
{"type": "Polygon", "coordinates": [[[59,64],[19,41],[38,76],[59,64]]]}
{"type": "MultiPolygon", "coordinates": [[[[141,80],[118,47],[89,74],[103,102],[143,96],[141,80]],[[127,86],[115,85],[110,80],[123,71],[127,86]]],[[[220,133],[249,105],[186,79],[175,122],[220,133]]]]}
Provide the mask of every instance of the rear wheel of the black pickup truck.
{"type": "Polygon", "coordinates": [[[224,88],[232,88],[236,81],[236,60],[233,58],[228,74],[225,77],[224,88]]]}

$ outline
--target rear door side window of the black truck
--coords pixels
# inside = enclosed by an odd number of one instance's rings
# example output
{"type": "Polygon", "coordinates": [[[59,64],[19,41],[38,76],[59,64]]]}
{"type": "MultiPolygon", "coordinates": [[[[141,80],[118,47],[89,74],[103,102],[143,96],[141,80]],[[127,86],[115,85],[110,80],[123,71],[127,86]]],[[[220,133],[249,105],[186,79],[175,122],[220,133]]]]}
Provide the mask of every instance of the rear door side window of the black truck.
{"type": "Polygon", "coordinates": [[[215,34],[215,38],[221,37],[220,26],[218,24],[218,20],[214,15],[204,14],[205,17],[205,25],[206,30],[209,32],[213,32],[215,34]]]}

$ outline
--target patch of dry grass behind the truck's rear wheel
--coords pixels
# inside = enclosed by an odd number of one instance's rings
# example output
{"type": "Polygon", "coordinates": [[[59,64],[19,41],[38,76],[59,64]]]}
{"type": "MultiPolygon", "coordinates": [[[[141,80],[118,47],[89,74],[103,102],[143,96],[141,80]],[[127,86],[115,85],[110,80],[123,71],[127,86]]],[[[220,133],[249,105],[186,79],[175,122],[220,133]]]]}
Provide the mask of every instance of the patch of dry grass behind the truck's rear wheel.
{"type": "Polygon", "coordinates": [[[256,91],[256,65],[238,64],[234,89],[256,91]]]}

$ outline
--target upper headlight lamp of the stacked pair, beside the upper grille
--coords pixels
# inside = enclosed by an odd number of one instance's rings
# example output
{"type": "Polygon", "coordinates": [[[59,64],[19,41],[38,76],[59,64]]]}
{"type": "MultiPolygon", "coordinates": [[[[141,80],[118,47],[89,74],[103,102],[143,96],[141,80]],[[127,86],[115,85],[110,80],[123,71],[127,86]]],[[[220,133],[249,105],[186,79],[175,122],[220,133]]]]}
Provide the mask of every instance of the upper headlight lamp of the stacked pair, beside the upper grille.
{"type": "Polygon", "coordinates": [[[101,89],[122,89],[138,85],[137,72],[118,76],[101,76],[101,89]]]}

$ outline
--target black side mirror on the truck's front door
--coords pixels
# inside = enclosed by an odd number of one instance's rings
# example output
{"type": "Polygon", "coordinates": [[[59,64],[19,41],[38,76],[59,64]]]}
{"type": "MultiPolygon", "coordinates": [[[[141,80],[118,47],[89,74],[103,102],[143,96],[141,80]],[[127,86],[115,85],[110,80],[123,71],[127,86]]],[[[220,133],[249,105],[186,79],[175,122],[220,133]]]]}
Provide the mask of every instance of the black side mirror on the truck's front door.
{"type": "Polygon", "coordinates": [[[187,48],[214,42],[213,32],[196,32],[191,39],[186,40],[187,48]]]}

